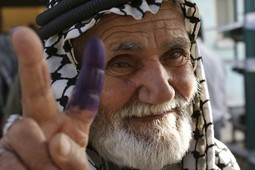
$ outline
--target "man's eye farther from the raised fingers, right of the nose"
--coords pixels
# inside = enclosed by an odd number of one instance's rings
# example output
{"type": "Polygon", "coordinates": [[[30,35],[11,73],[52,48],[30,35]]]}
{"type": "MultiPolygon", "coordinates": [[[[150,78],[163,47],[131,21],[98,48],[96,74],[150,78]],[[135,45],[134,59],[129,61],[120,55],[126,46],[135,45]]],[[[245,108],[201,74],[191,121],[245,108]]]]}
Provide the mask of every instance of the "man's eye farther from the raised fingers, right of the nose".
{"type": "Polygon", "coordinates": [[[177,67],[186,64],[189,61],[189,53],[181,48],[175,48],[167,51],[161,58],[164,65],[177,67]]]}

